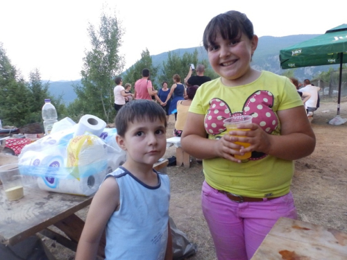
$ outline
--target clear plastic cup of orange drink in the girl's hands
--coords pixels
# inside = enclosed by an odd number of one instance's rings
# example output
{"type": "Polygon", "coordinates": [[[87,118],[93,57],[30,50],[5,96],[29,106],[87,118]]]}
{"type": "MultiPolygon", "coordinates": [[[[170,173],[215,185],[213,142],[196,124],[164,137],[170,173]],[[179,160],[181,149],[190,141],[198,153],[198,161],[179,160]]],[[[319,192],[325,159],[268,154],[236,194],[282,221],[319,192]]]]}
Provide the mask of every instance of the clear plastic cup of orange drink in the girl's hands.
{"type": "MultiPolygon", "coordinates": [[[[237,125],[241,124],[241,123],[252,123],[252,118],[253,116],[233,116],[230,117],[228,119],[224,119],[223,123],[224,126],[226,127],[226,130],[228,132],[230,131],[249,131],[251,129],[238,129],[237,125]]],[[[237,137],[244,137],[244,136],[239,136],[237,135],[237,137]]],[[[244,143],[242,141],[235,141],[235,144],[239,144],[240,146],[244,146],[244,148],[247,148],[248,146],[251,146],[251,144],[248,143],[244,143]]],[[[235,150],[239,150],[239,149],[235,149],[235,150]]],[[[236,159],[248,159],[249,157],[251,157],[252,153],[248,152],[245,153],[244,155],[234,155],[234,157],[236,159]]]]}

